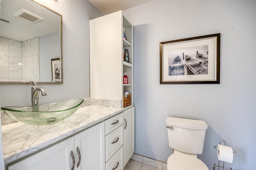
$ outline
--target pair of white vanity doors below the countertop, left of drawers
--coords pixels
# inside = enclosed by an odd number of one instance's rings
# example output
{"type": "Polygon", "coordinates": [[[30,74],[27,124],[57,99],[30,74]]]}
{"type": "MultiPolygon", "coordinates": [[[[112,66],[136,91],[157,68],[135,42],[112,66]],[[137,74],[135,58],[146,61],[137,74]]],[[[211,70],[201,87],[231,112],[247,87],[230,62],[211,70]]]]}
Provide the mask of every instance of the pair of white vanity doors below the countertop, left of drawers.
{"type": "Polygon", "coordinates": [[[104,122],[102,122],[28,158],[8,165],[7,170],[72,170],[72,167],[74,170],[105,170],[104,134],[104,122]]]}

